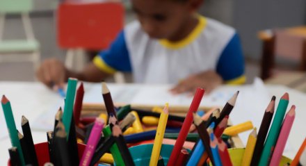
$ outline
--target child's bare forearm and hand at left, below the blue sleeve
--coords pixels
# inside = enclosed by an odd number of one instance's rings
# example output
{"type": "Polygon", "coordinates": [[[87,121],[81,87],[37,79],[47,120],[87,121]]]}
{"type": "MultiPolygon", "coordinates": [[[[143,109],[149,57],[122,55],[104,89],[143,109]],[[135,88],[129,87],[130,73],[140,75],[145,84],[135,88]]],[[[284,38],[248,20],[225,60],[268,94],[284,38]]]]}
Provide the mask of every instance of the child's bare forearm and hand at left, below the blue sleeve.
{"type": "Polygon", "coordinates": [[[99,82],[110,74],[102,72],[92,62],[81,72],[67,69],[65,65],[56,58],[45,60],[38,68],[36,76],[39,81],[49,88],[63,88],[69,77],[78,78],[82,81],[99,82]]]}

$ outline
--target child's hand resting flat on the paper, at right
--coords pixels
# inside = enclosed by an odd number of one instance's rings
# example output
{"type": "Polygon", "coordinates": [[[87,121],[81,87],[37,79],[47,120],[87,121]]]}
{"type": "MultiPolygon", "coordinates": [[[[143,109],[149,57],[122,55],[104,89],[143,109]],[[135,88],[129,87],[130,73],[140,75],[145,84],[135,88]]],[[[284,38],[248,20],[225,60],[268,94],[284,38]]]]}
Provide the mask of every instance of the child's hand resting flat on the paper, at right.
{"type": "Polygon", "coordinates": [[[203,88],[205,92],[209,93],[222,83],[223,79],[216,72],[209,70],[188,76],[175,85],[170,92],[172,92],[172,94],[180,94],[183,92],[190,92],[193,94],[196,88],[203,88]]]}

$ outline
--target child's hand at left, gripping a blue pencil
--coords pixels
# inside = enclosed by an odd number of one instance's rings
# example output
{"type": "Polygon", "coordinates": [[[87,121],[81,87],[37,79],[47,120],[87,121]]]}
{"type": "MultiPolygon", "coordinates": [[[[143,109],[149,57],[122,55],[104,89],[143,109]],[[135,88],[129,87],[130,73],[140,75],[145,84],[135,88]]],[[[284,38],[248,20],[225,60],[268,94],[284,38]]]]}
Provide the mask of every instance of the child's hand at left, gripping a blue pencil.
{"type": "Polygon", "coordinates": [[[67,69],[65,65],[55,58],[45,60],[36,71],[39,81],[54,90],[63,88],[67,79],[67,69]]]}

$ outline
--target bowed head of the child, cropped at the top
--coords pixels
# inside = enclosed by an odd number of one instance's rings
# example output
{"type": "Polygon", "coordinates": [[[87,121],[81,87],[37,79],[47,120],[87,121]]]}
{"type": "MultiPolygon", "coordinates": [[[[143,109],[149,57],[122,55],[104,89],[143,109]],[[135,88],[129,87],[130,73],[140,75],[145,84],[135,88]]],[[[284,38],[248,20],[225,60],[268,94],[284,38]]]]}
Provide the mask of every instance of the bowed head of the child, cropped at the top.
{"type": "Polygon", "coordinates": [[[176,40],[202,0],[131,0],[143,30],[151,38],[176,40]]]}

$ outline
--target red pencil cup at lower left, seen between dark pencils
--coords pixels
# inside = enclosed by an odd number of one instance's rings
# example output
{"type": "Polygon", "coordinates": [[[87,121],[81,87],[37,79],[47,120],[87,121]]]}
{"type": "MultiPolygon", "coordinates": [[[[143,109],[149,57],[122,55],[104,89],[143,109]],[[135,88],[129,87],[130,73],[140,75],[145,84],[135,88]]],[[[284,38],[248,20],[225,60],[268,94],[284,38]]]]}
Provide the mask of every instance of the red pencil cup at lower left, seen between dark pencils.
{"type": "MultiPolygon", "coordinates": [[[[78,143],[79,158],[83,156],[83,151],[85,150],[85,148],[86,144],[78,143]]],[[[50,162],[48,142],[35,144],[35,151],[39,165],[44,165],[45,163],[50,162]]],[[[8,160],[8,166],[10,166],[10,159],[8,160]]]]}

